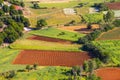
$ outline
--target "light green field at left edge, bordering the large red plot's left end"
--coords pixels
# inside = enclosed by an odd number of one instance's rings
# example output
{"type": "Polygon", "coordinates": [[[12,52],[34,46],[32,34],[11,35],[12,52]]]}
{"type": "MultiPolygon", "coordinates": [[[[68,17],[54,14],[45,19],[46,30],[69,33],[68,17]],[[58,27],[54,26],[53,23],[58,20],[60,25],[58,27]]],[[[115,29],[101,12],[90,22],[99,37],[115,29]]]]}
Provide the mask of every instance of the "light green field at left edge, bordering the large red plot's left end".
{"type": "Polygon", "coordinates": [[[19,50],[12,50],[8,48],[0,49],[0,72],[9,70],[23,69],[25,66],[13,65],[12,62],[19,54],[19,50]]]}

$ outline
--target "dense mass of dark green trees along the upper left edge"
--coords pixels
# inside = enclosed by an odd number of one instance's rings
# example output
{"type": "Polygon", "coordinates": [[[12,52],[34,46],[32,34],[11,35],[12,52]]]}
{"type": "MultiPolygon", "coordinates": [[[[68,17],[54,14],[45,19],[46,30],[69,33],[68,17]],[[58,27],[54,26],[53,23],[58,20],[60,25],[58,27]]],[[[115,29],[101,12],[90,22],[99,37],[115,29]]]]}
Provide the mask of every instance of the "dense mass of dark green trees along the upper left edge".
{"type": "MultiPolygon", "coordinates": [[[[11,0],[12,1],[12,0],[11,0]]],[[[30,22],[23,16],[22,10],[16,10],[14,5],[2,5],[0,9],[0,44],[12,43],[23,34],[23,28],[30,22]]]]}

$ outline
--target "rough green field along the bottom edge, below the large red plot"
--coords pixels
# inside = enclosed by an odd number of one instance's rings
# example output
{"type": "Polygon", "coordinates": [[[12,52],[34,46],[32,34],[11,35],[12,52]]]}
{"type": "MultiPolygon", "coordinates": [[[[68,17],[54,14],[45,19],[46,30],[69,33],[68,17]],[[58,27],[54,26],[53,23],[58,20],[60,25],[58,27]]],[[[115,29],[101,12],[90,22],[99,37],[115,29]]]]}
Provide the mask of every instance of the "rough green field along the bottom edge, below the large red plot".
{"type": "Polygon", "coordinates": [[[70,68],[45,67],[36,71],[18,73],[12,80],[59,80],[68,78],[65,74],[70,68]]]}

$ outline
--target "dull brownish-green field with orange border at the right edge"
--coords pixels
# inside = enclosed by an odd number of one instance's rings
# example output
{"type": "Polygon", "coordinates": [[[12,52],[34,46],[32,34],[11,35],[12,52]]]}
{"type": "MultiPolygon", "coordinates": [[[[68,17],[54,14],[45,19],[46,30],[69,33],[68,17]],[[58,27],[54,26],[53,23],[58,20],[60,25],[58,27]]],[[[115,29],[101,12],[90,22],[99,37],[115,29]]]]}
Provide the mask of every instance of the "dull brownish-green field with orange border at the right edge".
{"type": "Polygon", "coordinates": [[[97,40],[118,40],[120,39],[120,28],[103,33],[97,40]]]}

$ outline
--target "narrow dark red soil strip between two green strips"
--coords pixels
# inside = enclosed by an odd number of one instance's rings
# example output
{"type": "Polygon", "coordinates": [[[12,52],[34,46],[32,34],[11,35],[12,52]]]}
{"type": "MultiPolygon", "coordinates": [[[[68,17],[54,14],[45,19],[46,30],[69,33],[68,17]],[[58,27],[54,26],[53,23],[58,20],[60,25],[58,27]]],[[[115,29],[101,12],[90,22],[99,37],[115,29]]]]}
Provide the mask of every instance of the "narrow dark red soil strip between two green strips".
{"type": "Polygon", "coordinates": [[[57,38],[50,38],[50,37],[45,37],[45,36],[32,36],[29,37],[28,39],[30,40],[41,40],[41,41],[48,41],[48,42],[58,42],[58,43],[65,43],[65,44],[72,44],[72,41],[68,41],[68,40],[62,40],[62,39],[57,39],[57,38]]]}

